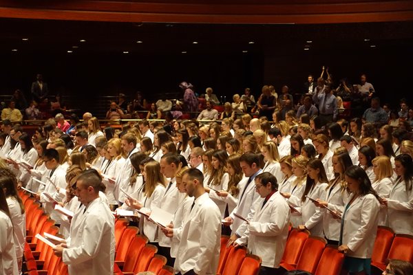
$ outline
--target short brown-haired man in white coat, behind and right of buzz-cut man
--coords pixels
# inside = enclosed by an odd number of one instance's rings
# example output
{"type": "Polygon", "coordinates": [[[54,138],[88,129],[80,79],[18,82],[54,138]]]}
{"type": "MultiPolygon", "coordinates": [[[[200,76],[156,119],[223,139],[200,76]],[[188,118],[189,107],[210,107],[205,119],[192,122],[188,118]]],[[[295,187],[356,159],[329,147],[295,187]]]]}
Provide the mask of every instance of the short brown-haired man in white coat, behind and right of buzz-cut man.
{"type": "MultiPolygon", "coordinates": [[[[120,205],[122,205],[125,201],[125,195],[123,194],[123,192],[120,192],[120,188],[127,190],[129,179],[134,173],[134,167],[131,164],[130,157],[134,153],[138,152],[138,149],[136,148],[136,142],[138,142],[136,140],[136,136],[131,133],[125,133],[120,141],[120,146],[122,146],[123,152],[125,152],[127,155],[126,162],[123,165],[122,170],[120,170],[118,177],[116,177],[115,179],[116,185],[114,190],[114,197],[120,203],[120,205]]],[[[140,186],[136,186],[136,189],[138,189],[139,187],[140,186]]]]}

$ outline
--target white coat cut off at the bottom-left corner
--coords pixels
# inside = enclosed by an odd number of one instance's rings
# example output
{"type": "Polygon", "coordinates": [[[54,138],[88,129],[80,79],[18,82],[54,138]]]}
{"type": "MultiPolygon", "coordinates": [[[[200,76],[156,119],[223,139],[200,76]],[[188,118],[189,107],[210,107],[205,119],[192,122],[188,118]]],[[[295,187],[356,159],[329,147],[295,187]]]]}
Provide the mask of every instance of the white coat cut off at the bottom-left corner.
{"type": "MultiPolygon", "coordinates": [[[[14,251],[12,221],[0,210],[0,274],[17,275],[16,252],[14,251]]],[[[219,252],[218,252],[219,254],[219,252]]]]}

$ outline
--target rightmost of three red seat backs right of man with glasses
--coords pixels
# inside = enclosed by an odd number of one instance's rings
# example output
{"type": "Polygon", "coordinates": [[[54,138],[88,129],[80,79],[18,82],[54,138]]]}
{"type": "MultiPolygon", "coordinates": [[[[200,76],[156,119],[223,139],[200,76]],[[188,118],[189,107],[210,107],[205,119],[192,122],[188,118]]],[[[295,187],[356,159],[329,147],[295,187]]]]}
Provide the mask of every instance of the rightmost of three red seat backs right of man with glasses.
{"type": "Polygon", "coordinates": [[[337,250],[335,245],[327,245],[317,266],[314,275],[337,275],[341,272],[344,254],[337,250]]]}

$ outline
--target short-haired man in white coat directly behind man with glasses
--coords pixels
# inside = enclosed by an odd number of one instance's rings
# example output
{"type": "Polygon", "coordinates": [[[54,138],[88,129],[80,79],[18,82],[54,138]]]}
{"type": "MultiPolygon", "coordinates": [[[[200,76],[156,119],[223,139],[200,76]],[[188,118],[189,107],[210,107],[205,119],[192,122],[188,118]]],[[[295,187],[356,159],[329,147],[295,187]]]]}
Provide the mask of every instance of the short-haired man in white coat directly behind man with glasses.
{"type": "Polygon", "coordinates": [[[240,181],[240,199],[238,199],[237,206],[225,217],[224,225],[232,225],[233,234],[229,240],[229,244],[233,243],[237,238],[242,236],[246,230],[246,222],[235,217],[235,213],[244,217],[248,221],[254,217],[255,206],[262,203],[262,198],[255,192],[253,180],[262,173],[260,168],[260,156],[253,153],[245,153],[240,157],[240,166],[244,172],[244,178],[240,181]]]}

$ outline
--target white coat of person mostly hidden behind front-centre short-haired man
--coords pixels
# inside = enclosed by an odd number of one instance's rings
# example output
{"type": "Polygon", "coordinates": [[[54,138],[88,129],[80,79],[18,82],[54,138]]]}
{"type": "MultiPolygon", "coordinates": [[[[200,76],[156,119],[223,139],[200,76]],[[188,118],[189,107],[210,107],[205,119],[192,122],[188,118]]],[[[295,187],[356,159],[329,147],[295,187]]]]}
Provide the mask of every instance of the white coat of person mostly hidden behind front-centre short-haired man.
{"type": "MultiPolygon", "coordinates": [[[[184,194],[185,195],[185,194],[184,194]]],[[[182,229],[184,228],[184,220],[189,217],[191,212],[191,206],[193,203],[193,197],[185,197],[184,201],[180,203],[178,209],[173,215],[173,237],[171,238],[171,257],[176,258],[178,255],[178,247],[180,243],[180,236],[182,235],[182,229]]]]}

